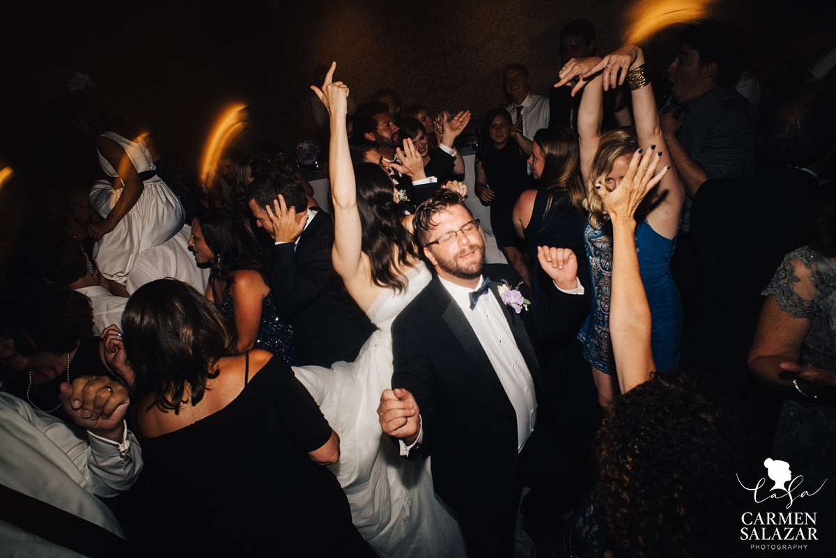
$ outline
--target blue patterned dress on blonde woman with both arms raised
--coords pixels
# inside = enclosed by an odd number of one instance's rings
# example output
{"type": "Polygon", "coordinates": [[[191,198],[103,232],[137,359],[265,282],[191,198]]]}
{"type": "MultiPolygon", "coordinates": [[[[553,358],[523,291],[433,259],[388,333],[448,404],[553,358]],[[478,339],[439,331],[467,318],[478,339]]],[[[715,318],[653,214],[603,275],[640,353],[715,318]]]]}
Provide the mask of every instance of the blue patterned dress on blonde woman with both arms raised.
{"type": "MultiPolygon", "coordinates": [[[[613,242],[600,228],[587,223],[584,230],[589,276],[592,279],[592,311],[578,332],[584,343],[584,358],[605,374],[615,373],[609,338],[609,296],[613,275],[613,242]]],[[[642,221],[635,230],[635,249],[639,255],[641,281],[645,284],[650,315],[653,318],[651,344],[658,370],[676,368],[682,339],[682,302],[670,274],[676,238],[665,238],[642,221]]]]}

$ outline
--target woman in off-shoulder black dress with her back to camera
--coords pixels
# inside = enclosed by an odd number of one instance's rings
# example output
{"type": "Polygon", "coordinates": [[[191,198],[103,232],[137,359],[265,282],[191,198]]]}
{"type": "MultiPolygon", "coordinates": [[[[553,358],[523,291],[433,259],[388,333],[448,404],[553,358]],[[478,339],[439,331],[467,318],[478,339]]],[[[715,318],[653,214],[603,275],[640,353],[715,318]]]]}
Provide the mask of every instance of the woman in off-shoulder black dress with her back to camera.
{"type": "MultiPolygon", "coordinates": [[[[339,436],[281,358],[236,354],[220,310],[175,280],[148,283],[104,332],[135,390],[156,554],[374,556],[324,464],[339,436]]],[[[143,532],[140,527],[138,531],[143,532]]]]}

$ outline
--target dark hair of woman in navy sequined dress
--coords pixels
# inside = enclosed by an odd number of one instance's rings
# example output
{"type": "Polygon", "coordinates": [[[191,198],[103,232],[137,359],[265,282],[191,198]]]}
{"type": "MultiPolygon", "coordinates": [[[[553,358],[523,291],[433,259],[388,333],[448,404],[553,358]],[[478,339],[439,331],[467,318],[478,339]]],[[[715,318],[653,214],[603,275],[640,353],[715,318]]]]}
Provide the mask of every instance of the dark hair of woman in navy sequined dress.
{"type": "Polygon", "coordinates": [[[221,304],[232,284],[232,274],[242,269],[258,271],[268,282],[267,270],[255,239],[247,233],[240,219],[226,209],[214,208],[197,217],[203,240],[215,254],[209,272],[212,296],[221,304]],[[221,285],[222,291],[217,287],[221,285]]]}

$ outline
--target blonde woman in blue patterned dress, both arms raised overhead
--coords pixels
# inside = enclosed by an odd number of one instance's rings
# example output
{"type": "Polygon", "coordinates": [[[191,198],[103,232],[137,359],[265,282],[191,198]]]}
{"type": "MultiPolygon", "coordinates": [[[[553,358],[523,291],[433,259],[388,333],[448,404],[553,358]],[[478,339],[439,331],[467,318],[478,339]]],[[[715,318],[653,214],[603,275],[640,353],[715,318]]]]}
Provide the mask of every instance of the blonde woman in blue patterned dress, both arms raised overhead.
{"type": "MultiPolygon", "coordinates": [[[[584,231],[589,271],[594,290],[592,311],[581,328],[579,338],[584,343],[584,358],[593,367],[598,387],[599,403],[609,407],[615,398],[612,344],[609,334],[609,283],[612,266],[612,233],[600,191],[618,187],[630,156],[640,145],[650,147],[662,165],[670,165],[665,138],[659,125],[659,115],[650,79],[645,74],[645,58],[641,49],[626,45],[604,57],[570,60],[560,72],[556,86],[568,84],[578,76],[573,92],[586,86],[578,113],[581,172],[586,182],[584,207],[589,211],[589,223],[584,231]],[[619,77],[620,76],[620,77],[619,77]],[[604,89],[614,88],[629,79],[636,133],[614,129],[601,134],[604,115],[604,89]],[[601,188],[598,188],[601,186],[601,188]]],[[[636,245],[642,280],[648,293],[653,313],[653,353],[661,370],[670,370],[679,363],[682,337],[682,305],[670,273],[679,232],[685,189],[682,181],[671,170],[661,180],[654,195],[636,214],[636,245]]]]}

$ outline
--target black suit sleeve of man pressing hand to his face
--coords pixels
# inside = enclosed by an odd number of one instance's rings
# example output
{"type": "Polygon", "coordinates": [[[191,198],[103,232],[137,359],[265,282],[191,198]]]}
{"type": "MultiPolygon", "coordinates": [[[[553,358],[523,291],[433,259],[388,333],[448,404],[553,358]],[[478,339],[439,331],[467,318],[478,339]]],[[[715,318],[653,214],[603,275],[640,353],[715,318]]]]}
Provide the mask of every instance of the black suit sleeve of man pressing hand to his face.
{"type": "MultiPolygon", "coordinates": [[[[327,218],[327,215],[314,217],[327,218]]],[[[312,226],[313,222],[308,229],[312,226]]],[[[293,317],[308,307],[324,292],[334,273],[331,263],[333,232],[310,231],[311,236],[307,238],[304,236],[306,232],[302,233],[295,253],[291,242],[270,246],[264,251],[271,293],[279,316],[293,317]]]]}

